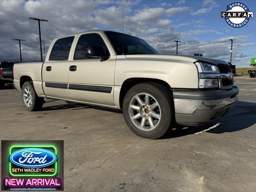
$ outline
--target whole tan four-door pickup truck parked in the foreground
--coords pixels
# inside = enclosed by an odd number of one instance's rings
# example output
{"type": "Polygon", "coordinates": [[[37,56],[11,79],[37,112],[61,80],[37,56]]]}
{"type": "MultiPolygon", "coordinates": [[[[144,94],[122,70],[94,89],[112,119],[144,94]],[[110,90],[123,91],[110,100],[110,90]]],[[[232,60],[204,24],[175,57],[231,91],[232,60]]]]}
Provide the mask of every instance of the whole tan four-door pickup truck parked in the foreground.
{"type": "Polygon", "coordinates": [[[138,136],[160,138],[176,123],[198,126],[236,106],[227,62],[161,55],[134,36],[94,30],[53,40],[44,62],[14,65],[27,110],[44,98],[122,109],[138,136]]]}

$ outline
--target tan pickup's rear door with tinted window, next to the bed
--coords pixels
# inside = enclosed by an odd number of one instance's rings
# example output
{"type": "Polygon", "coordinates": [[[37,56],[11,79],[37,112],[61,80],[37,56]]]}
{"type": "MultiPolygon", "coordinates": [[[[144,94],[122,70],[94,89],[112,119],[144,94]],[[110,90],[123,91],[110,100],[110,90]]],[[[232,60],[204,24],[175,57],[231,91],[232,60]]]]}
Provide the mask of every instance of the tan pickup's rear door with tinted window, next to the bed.
{"type": "Polygon", "coordinates": [[[69,99],[68,66],[70,50],[72,50],[75,36],[66,36],[55,40],[50,54],[42,66],[42,80],[44,93],[48,97],[69,99]]]}

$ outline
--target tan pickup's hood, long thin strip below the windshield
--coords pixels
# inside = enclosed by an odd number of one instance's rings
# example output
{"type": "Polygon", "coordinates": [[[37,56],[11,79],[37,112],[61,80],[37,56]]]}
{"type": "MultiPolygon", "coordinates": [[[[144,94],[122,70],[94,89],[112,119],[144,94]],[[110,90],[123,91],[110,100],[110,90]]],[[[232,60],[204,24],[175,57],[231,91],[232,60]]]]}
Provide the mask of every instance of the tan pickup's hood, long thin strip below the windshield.
{"type": "Polygon", "coordinates": [[[186,56],[186,55],[160,55],[160,54],[136,54],[136,55],[126,55],[126,58],[150,58],[150,59],[170,59],[170,60],[184,60],[189,62],[204,61],[212,64],[226,64],[228,63],[223,60],[211,59],[206,57],[198,56],[186,56]]]}

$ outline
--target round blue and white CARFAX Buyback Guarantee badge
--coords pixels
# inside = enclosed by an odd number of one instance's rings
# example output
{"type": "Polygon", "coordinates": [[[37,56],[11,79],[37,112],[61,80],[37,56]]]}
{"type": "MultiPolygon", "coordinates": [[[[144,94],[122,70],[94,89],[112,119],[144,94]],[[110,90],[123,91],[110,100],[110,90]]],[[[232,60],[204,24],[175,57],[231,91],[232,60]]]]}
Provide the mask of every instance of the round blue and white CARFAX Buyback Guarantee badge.
{"type": "Polygon", "coordinates": [[[227,24],[234,28],[245,26],[250,18],[253,18],[253,12],[250,12],[248,7],[240,2],[227,5],[227,10],[221,12],[221,18],[225,18],[227,24]]]}

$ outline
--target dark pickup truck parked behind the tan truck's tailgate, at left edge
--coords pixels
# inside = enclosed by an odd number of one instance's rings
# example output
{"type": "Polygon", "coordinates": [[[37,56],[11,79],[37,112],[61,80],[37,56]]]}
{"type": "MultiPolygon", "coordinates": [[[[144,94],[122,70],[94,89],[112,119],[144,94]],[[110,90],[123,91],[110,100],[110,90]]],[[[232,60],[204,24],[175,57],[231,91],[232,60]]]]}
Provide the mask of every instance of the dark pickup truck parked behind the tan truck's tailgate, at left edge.
{"type": "Polygon", "coordinates": [[[4,88],[6,83],[13,82],[13,68],[14,62],[0,62],[0,88],[4,88]]]}

